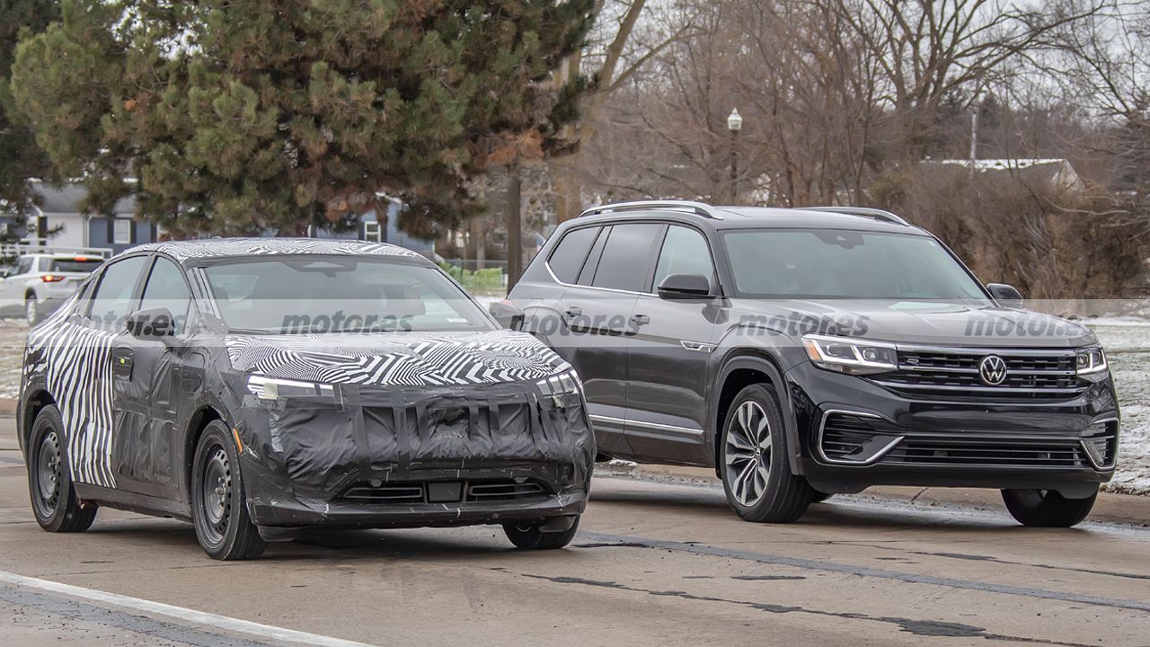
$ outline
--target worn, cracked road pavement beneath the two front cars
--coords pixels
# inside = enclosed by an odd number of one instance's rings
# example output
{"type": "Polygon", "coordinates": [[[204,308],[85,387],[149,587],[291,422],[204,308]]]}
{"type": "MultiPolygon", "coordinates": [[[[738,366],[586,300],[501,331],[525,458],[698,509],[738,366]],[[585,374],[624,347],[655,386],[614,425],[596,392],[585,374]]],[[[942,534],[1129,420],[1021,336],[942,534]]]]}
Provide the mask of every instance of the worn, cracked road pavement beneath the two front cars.
{"type": "Polygon", "coordinates": [[[0,419],[0,645],[1150,645],[1150,528],[601,478],[566,550],[494,527],[338,533],[220,563],[187,524],[40,531],[0,419]]]}

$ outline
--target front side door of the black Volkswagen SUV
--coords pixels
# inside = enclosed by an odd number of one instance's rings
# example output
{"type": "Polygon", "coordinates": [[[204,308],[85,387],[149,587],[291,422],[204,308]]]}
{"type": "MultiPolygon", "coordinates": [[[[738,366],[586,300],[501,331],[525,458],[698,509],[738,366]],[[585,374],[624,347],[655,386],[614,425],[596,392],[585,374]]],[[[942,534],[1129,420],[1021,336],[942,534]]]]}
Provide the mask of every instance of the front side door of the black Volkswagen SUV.
{"type": "MultiPolygon", "coordinates": [[[[706,276],[718,294],[714,261],[702,231],[683,224],[667,228],[651,284],[657,289],[670,274],[706,276]]],[[[627,440],[641,460],[707,463],[706,370],[721,315],[713,299],[636,297],[636,332],[627,356],[627,440]]]]}

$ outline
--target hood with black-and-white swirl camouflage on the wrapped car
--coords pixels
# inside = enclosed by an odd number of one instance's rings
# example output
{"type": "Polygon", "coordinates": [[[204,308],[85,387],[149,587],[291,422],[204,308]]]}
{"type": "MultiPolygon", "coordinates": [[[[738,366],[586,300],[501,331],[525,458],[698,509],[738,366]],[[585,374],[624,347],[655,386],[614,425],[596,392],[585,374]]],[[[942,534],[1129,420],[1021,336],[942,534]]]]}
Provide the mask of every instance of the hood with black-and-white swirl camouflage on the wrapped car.
{"type": "Polygon", "coordinates": [[[466,386],[539,380],[570,370],[526,333],[228,335],[236,371],[322,383],[466,386]]]}

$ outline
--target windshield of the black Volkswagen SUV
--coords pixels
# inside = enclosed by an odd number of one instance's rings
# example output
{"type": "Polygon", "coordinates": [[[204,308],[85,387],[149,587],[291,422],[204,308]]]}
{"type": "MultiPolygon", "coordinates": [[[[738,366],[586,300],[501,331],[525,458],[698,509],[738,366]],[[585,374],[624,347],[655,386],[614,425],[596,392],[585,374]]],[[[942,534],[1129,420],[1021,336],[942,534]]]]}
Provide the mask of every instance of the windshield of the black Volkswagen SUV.
{"type": "Polygon", "coordinates": [[[741,296],[963,300],[982,288],[934,238],[838,229],[723,235],[741,296]]]}

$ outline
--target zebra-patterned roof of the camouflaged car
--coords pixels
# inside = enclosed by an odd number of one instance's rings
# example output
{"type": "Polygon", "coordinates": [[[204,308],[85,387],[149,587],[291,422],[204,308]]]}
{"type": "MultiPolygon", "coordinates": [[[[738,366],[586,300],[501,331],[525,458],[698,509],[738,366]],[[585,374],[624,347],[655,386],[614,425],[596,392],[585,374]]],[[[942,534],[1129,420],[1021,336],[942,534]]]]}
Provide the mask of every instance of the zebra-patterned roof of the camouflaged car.
{"type": "Polygon", "coordinates": [[[428,261],[406,248],[373,243],[370,241],[340,241],[329,238],[202,238],[147,243],[129,252],[160,252],[179,261],[207,260],[227,257],[252,256],[381,256],[428,261]]]}

